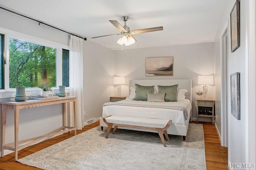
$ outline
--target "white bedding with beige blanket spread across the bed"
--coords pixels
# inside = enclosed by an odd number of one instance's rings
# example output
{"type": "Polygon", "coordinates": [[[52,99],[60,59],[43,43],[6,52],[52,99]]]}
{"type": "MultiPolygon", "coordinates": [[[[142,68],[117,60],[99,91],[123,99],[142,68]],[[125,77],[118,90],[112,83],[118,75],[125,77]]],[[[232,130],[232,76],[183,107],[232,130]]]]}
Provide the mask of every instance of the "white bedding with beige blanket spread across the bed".
{"type": "MultiPolygon", "coordinates": [[[[144,105],[159,105],[159,106],[184,106],[188,111],[188,119],[190,117],[190,110],[192,108],[189,100],[179,102],[147,102],[147,101],[136,101],[126,99],[119,101],[118,103],[124,104],[144,104],[144,105]]],[[[109,115],[120,115],[120,116],[132,116],[132,117],[145,117],[152,119],[170,119],[174,125],[186,125],[186,121],[183,111],[174,109],[162,109],[152,107],[135,107],[135,106],[119,106],[110,105],[104,106],[102,111],[102,117],[109,115]]]]}

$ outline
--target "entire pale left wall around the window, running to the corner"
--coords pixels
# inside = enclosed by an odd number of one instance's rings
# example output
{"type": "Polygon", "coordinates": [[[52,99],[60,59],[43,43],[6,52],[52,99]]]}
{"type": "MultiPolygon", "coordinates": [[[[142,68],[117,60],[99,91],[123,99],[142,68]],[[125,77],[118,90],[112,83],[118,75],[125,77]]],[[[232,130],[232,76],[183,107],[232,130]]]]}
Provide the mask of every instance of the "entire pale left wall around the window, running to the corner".
{"type": "MultiPolygon", "coordinates": [[[[0,27],[69,45],[70,35],[36,21],[0,9],[0,27]]],[[[113,72],[113,50],[84,41],[84,109],[88,119],[102,115],[102,104],[110,100],[113,72]]],[[[57,91],[58,92],[58,91],[57,91]]],[[[13,94],[12,97],[14,97],[13,94]]],[[[8,101],[2,98],[0,101],[8,101]]],[[[85,117],[85,121],[87,120],[85,117]]],[[[62,126],[62,105],[23,109],[20,111],[19,140],[44,135],[62,126]]],[[[5,143],[14,141],[14,113],[7,111],[5,143]]],[[[5,154],[9,151],[5,151],[5,154]]]]}

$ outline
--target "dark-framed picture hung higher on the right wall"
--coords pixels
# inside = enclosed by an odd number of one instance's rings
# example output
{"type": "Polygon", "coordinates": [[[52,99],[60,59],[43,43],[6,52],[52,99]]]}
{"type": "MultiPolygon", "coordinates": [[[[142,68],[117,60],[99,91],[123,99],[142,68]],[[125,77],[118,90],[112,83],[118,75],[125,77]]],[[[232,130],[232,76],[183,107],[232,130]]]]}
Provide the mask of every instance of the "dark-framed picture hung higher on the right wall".
{"type": "Polygon", "coordinates": [[[236,0],[230,13],[231,53],[240,47],[240,4],[236,0]]]}

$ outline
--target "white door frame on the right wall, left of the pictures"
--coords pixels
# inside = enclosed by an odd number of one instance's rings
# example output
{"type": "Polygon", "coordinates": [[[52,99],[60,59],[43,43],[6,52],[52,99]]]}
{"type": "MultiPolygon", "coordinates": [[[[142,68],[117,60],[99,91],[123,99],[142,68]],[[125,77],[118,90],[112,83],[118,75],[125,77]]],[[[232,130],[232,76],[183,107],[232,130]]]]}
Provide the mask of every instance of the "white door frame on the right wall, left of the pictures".
{"type": "MultiPolygon", "coordinates": [[[[224,28],[222,29],[222,33],[220,36],[220,66],[221,66],[221,135],[219,133],[219,137],[221,140],[221,145],[223,147],[228,147],[228,112],[227,112],[227,105],[228,101],[227,99],[227,86],[228,86],[228,77],[226,77],[226,74],[228,75],[228,68],[225,68],[224,66],[228,64],[228,52],[227,56],[223,55],[225,52],[225,49],[223,49],[223,39],[227,36],[227,51],[228,51],[228,22],[224,25],[224,28]],[[227,59],[227,61],[226,61],[227,59]],[[225,62],[226,61],[226,62],[225,62]],[[223,63],[224,62],[224,63],[223,63]],[[226,63],[226,64],[225,64],[226,63]],[[224,65],[225,64],[225,65],[224,65]],[[224,67],[224,68],[223,68],[224,67]],[[225,71],[226,70],[226,71],[225,71]],[[225,78],[226,77],[226,78],[225,78]],[[224,81],[223,81],[224,80],[224,81]],[[225,102],[226,101],[226,102],[225,102]],[[226,113],[227,112],[227,113],[226,113]]],[[[224,40],[225,41],[225,40],[224,40]]],[[[228,99],[227,99],[228,100],[228,99]]]]}

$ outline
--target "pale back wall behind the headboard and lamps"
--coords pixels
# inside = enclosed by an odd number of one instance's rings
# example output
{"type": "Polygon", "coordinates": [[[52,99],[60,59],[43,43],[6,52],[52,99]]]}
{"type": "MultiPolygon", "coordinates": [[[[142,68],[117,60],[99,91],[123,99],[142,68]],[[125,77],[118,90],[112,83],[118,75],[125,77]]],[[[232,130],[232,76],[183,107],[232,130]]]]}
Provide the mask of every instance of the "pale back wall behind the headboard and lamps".
{"type": "MultiPolygon", "coordinates": [[[[126,77],[126,85],[122,86],[124,96],[129,95],[132,79],[192,79],[192,118],[196,118],[195,92],[203,89],[203,85],[197,85],[197,78],[214,73],[213,43],[119,50],[115,54],[115,74],[126,77]],[[145,58],[171,56],[174,57],[173,76],[145,76],[145,58]]],[[[214,86],[208,85],[208,92],[209,98],[215,98],[214,86]]]]}

